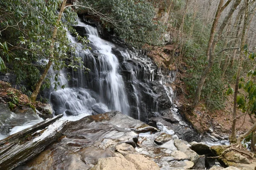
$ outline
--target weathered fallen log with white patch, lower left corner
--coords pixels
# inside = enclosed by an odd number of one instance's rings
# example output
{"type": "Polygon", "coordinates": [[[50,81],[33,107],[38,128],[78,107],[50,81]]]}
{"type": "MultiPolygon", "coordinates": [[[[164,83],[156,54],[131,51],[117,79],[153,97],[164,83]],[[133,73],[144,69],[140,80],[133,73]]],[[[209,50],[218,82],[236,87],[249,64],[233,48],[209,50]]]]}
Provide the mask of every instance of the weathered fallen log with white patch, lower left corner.
{"type": "Polygon", "coordinates": [[[63,115],[40,122],[0,141],[0,170],[12,170],[41,153],[61,136],[68,122],[58,120],[63,115]]]}

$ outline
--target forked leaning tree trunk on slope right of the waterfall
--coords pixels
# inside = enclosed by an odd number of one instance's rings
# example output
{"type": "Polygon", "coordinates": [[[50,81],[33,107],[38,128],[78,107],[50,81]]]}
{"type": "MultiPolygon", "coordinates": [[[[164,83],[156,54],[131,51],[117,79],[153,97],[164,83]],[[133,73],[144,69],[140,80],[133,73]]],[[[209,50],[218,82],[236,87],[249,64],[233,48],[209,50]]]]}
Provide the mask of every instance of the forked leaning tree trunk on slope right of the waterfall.
{"type": "Polygon", "coordinates": [[[194,99],[192,105],[189,108],[189,111],[191,111],[191,112],[194,111],[195,107],[198,105],[205,79],[206,79],[207,75],[209,74],[209,72],[212,68],[212,65],[213,65],[213,62],[214,62],[214,58],[213,58],[214,56],[213,56],[212,53],[214,53],[214,51],[215,51],[215,47],[218,43],[218,40],[221,37],[221,34],[222,34],[226,24],[227,24],[227,21],[230,20],[230,17],[232,16],[233,12],[236,10],[236,7],[239,5],[240,2],[241,2],[241,0],[236,0],[236,2],[233,3],[232,7],[230,8],[229,13],[224,18],[224,20],[223,20],[223,22],[222,22],[222,24],[219,28],[218,37],[216,37],[214,39],[214,33],[215,33],[215,29],[217,27],[218,18],[220,17],[221,11],[224,10],[224,7],[227,4],[226,3],[223,7],[221,7],[222,4],[223,4],[223,0],[221,0],[220,3],[219,3],[218,10],[216,11],[215,19],[212,23],[212,30],[211,30],[211,34],[210,34],[210,38],[209,38],[209,42],[208,42],[208,46],[207,46],[207,58],[209,58],[209,63],[207,65],[207,67],[204,69],[203,73],[201,74],[201,78],[198,82],[198,88],[195,92],[195,99],[194,99]]]}

